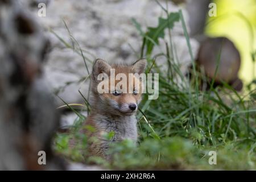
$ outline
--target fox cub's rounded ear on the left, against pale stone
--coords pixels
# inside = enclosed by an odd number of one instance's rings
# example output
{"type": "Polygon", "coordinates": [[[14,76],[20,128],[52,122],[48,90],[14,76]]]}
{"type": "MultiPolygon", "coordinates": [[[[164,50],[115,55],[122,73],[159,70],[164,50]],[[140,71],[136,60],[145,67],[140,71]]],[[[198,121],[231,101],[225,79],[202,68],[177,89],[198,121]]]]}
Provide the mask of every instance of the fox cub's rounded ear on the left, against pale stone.
{"type": "Polygon", "coordinates": [[[106,73],[109,75],[111,68],[112,67],[106,61],[102,59],[96,59],[93,63],[92,71],[92,76],[94,80],[97,80],[97,77],[100,73],[106,73]]]}

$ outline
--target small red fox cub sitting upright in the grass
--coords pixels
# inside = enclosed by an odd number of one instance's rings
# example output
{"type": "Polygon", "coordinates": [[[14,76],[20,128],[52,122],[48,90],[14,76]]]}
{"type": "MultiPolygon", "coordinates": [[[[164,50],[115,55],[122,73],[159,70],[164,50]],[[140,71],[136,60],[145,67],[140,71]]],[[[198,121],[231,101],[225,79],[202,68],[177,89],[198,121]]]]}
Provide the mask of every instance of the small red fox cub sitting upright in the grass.
{"type": "Polygon", "coordinates": [[[108,64],[101,59],[94,61],[90,90],[92,112],[84,125],[90,125],[95,130],[93,132],[82,131],[88,137],[90,155],[110,159],[110,156],[106,155],[110,142],[120,142],[123,139],[137,141],[135,113],[142,99],[143,82],[135,75],[141,75],[146,65],[147,61],[144,59],[135,61],[131,65],[108,64]],[[118,78],[119,73],[127,79],[118,78]],[[102,74],[105,75],[103,81],[102,74]],[[112,76],[114,76],[113,81],[108,78],[112,76]],[[118,88],[120,80],[123,84],[118,88]],[[135,82],[139,87],[135,85],[135,82]],[[106,92],[102,93],[101,89],[106,92]],[[114,137],[108,140],[104,135],[111,131],[114,132],[114,137]]]}

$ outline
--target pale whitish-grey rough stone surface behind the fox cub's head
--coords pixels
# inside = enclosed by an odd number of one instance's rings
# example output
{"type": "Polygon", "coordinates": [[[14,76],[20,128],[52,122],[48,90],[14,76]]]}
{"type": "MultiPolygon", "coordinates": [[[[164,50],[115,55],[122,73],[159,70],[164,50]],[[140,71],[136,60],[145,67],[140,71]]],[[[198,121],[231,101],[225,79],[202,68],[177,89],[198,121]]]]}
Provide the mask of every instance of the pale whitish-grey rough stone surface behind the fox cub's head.
{"type": "MultiPolygon", "coordinates": [[[[23,4],[27,3],[24,0],[19,1],[23,4]]],[[[38,22],[45,28],[46,35],[51,40],[51,52],[44,66],[44,72],[52,90],[65,86],[67,82],[73,82],[59,92],[59,96],[68,103],[82,103],[82,97],[78,90],[81,88],[81,92],[87,95],[88,81],[84,83],[77,81],[81,77],[86,77],[88,73],[82,57],[72,49],[66,48],[55,35],[47,31],[49,28],[72,46],[69,33],[63,23],[64,19],[80,47],[90,52],[90,54],[84,52],[90,61],[96,57],[107,61],[135,61],[138,57],[130,46],[139,52],[142,40],[138,30],[131,22],[131,18],[135,18],[141,23],[143,30],[146,31],[147,26],[156,26],[158,17],[165,15],[161,7],[151,0],[49,0],[46,2],[46,17],[38,17],[36,3],[31,7],[38,22]]],[[[160,3],[166,7],[166,1],[160,1],[160,3]]],[[[169,11],[178,11],[180,8],[168,1],[169,11]]],[[[183,14],[185,22],[188,22],[188,16],[184,9],[183,14]]],[[[183,64],[181,70],[185,73],[187,65],[191,63],[191,57],[180,22],[175,23],[172,36],[177,49],[177,57],[183,64]]],[[[165,39],[168,41],[168,36],[165,39]]],[[[193,39],[191,44],[193,54],[196,55],[198,44],[193,39]]],[[[160,46],[154,49],[153,55],[161,50],[165,50],[163,41],[160,41],[160,46]]],[[[159,64],[167,64],[161,58],[157,61],[159,64]]],[[[90,71],[91,63],[88,61],[87,64],[90,71]]],[[[60,100],[57,100],[57,103],[63,105],[60,100]]]]}

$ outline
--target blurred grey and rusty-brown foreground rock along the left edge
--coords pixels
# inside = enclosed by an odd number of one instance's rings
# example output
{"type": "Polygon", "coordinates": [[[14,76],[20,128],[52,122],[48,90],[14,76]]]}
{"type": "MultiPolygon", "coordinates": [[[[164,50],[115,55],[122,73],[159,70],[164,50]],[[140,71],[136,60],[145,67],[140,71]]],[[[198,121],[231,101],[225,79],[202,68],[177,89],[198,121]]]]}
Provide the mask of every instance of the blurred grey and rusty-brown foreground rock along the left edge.
{"type": "Polygon", "coordinates": [[[41,77],[48,42],[15,1],[0,1],[0,169],[65,169],[53,155],[59,126],[41,77]],[[46,152],[46,165],[38,152],[46,152]]]}

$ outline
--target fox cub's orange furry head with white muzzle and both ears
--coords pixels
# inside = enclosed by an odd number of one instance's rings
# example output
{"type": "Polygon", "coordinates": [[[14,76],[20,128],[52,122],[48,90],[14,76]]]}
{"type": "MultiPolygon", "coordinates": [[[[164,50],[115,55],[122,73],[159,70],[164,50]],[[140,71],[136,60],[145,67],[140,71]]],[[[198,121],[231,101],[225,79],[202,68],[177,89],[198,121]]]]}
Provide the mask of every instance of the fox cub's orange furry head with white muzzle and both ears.
{"type": "Polygon", "coordinates": [[[141,102],[143,82],[139,77],[147,61],[142,59],[131,65],[108,64],[97,59],[93,64],[92,93],[97,109],[114,115],[132,115],[141,102]]]}

